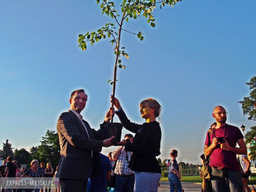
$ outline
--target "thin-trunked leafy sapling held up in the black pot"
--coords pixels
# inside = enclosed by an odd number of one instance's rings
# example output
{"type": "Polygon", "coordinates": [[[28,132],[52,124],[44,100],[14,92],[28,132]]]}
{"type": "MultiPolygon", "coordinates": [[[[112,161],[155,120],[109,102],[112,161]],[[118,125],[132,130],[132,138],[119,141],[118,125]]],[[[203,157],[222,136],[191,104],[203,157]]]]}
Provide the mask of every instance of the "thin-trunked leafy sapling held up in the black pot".
{"type": "MultiPolygon", "coordinates": [[[[127,59],[129,58],[128,53],[125,51],[125,47],[120,48],[121,32],[124,31],[132,33],[141,41],[143,41],[145,36],[140,31],[131,32],[127,29],[123,29],[123,23],[128,22],[130,19],[145,17],[150,26],[155,27],[157,22],[153,10],[156,9],[157,6],[159,6],[160,9],[162,9],[164,6],[173,7],[178,1],[181,0],[118,0],[117,3],[120,6],[120,13],[118,13],[119,10],[117,11],[114,2],[108,0],[96,0],[97,4],[99,4],[100,8],[102,9],[102,14],[107,14],[114,20],[114,22],[106,23],[105,26],[101,27],[97,31],[79,34],[78,47],[85,51],[88,43],[94,45],[95,42],[105,39],[106,37],[111,39],[110,43],[112,46],[114,45],[116,61],[114,65],[113,81],[109,80],[108,83],[110,82],[111,85],[113,85],[113,96],[115,96],[116,89],[117,67],[125,69],[125,65],[122,64],[121,56],[124,56],[127,59]]],[[[113,122],[113,118],[111,118],[111,122],[113,122]]]]}

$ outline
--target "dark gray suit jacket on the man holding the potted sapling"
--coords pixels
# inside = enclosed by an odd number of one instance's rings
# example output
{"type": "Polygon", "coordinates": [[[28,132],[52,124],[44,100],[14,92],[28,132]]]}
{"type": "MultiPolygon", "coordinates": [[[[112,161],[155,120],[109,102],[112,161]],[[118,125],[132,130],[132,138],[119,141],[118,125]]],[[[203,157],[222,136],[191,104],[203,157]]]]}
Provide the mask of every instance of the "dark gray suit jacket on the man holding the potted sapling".
{"type": "MultiPolygon", "coordinates": [[[[64,112],[57,122],[59,135],[60,155],[57,176],[61,179],[87,180],[92,173],[91,151],[100,152],[103,141],[100,132],[92,129],[83,120],[87,127],[88,137],[80,119],[72,111],[64,112]]],[[[93,156],[94,157],[94,156],[93,156]]]]}

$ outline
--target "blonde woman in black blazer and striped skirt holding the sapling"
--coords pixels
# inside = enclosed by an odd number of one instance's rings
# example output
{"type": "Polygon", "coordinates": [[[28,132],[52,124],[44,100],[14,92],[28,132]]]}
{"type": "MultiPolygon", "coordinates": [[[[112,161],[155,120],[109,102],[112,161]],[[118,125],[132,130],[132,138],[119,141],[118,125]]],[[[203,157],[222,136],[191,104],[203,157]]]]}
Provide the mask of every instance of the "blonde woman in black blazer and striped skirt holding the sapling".
{"type": "Polygon", "coordinates": [[[141,117],[146,119],[146,122],[140,125],[132,123],[126,117],[117,98],[112,98],[111,102],[117,108],[116,114],[123,127],[136,133],[133,143],[126,140],[118,143],[125,146],[125,151],[133,152],[128,167],[135,172],[134,191],[158,191],[161,168],[156,156],[160,155],[161,128],[156,117],[160,115],[160,104],[152,98],[140,103],[141,117]]]}

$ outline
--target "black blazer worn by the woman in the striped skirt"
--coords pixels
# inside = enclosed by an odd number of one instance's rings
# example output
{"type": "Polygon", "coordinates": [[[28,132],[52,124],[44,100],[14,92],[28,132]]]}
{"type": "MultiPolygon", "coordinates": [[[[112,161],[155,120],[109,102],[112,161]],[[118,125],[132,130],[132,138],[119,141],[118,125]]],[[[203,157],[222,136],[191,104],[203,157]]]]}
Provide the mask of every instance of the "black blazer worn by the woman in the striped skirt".
{"type": "Polygon", "coordinates": [[[156,159],[160,155],[161,128],[159,122],[152,121],[142,125],[132,123],[121,109],[116,112],[125,129],[136,133],[133,143],[125,144],[125,151],[133,152],[128,167],[133,171],[161,173],[156,159]]]}

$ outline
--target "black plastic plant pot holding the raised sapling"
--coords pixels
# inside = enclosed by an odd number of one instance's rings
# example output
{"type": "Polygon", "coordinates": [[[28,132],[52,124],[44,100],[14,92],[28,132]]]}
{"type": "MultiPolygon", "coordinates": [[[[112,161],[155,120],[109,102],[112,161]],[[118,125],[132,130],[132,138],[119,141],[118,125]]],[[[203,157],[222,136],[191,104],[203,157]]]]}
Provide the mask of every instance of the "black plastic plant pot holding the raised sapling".
{"type": "Polygon", "coordinates": [[[100,124],[101,136],[102,139],[109,139],[113,135],[114,139],[111,140],[111,143],[115,144],[121,141],[123,125],[121,123],[102,123],[100,124]]]}

